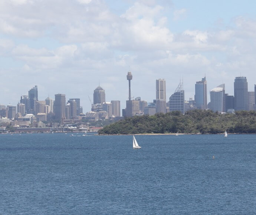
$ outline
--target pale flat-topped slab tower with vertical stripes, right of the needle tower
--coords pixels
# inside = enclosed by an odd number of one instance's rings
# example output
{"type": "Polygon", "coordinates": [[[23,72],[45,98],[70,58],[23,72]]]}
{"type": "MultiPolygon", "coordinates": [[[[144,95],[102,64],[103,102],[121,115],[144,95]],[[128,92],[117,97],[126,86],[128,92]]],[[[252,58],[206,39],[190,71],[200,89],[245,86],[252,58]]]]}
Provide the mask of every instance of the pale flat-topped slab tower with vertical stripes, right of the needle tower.
{"type": "Polygon", "coordinates": [[[156,80],[156,111],[166,113],[166,87],[164,79],[156,80]]]}

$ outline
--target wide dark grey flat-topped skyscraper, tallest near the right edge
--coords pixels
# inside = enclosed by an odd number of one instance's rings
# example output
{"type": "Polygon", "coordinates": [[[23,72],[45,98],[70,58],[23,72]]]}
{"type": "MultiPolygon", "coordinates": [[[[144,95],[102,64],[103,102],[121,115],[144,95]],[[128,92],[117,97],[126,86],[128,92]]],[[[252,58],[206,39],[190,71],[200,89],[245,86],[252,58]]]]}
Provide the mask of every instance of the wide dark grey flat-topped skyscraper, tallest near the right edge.
{"type": "Polygon", "coordinates": [[[234,80],[234,109],[248,110],[248,83],[243,76],[234,80]]]}

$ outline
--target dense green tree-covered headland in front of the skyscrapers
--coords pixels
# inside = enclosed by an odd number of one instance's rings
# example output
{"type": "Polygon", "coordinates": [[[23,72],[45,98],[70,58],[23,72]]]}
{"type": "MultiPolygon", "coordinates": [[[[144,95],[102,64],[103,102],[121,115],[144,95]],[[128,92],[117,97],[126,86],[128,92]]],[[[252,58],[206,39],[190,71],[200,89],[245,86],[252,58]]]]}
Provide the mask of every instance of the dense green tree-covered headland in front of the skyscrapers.
{"type": "Polygon", "coordinates": [[[157,113],[154,116],[134,116],[105,126],[99,134],[137,133],[256,133],[256,112],[237,111],[219,114],[211,110],[191,110],[157,113]]]}

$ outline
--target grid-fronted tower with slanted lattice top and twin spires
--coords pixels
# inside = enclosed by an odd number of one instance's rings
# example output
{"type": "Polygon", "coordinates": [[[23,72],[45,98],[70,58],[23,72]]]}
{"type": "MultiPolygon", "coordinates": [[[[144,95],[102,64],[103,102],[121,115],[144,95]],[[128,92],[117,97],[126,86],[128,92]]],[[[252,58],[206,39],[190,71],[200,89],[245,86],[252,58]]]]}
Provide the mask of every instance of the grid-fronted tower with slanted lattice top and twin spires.
{"type": "Polygon", "coordinates": [[[184,103],[185,103],[185,100],[184,100],[183,82],[180,81],[178,87],[176,88],[173,95],[171,95],[169,100],[170,112],[179,110],[182,114],[184,114],[185,113],[184,103]]]}

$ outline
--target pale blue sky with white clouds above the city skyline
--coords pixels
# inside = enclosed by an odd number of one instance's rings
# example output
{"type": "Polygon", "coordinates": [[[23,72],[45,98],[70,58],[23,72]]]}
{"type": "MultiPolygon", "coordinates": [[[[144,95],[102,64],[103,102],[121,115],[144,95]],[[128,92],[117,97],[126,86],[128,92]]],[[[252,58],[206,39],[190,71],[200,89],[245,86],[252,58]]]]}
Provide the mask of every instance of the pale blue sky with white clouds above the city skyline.
{"type": "MultiPolygon", "coordinates": [[[[0,103],[17,105],[38,86],[38,99],[57,93],[80,98],[100,84],[106,101],[132,96],[152,102],[155,80],[166,80],[167,100],[183,79],[194,98],[204,75],[208,93],[246,76],[256,84],[254,0],[1,0],[0,103]]],[[[208,98],[210,102],[210,97],[208,98]]]]}

